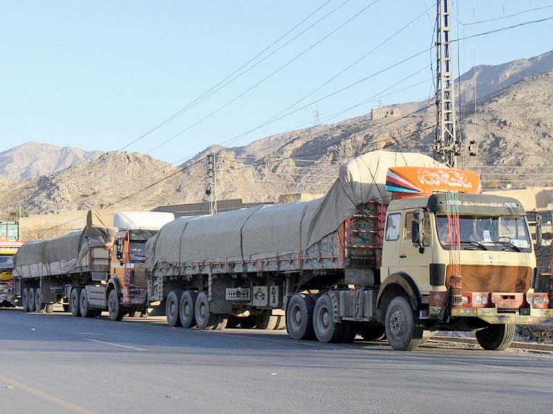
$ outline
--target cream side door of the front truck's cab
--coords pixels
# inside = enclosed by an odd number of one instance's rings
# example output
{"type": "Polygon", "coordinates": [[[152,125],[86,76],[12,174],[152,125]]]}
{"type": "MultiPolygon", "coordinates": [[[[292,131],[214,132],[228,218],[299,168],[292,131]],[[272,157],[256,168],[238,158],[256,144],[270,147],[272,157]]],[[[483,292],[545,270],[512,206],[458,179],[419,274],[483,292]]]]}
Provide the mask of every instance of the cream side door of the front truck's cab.
{"type": "Polygon", "coordinates": [[[421,294],[431,290],[429,264],[432,262],[431,219],[427,210],[424,211],[424,229],[422,232],[422,248],[418,244],[419,210],[405,213],[402,237],[400,237],[400,267],[401,271],[411,276],[421,294]],[[415,223],[415,226],[413,226],[415,223]],[[413,231],[415,237],[413,237],[413,231]]]}

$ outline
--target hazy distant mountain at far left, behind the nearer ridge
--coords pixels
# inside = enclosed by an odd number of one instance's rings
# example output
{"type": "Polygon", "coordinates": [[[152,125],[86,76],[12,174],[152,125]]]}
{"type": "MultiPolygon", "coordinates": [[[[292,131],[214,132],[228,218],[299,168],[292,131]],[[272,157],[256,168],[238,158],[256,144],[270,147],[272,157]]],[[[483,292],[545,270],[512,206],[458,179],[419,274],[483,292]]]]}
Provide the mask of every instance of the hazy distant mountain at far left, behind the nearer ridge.
{"type": "Polygon", "coordinates": [[[0,176],[14,181],[51,174],[83,161],[100,157],[102,151],[83,151],[28,141],[0,152],[0,176]]]}

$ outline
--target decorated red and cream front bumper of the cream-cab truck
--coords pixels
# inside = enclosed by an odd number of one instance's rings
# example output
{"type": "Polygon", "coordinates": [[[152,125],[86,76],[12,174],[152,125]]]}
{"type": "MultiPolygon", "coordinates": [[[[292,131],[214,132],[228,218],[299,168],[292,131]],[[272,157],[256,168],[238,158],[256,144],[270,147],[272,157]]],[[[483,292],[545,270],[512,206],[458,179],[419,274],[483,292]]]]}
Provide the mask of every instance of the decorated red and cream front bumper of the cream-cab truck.
{"type": "MultiPolygon", "coordinates": [[[[448,306],[446,292],[433,292],[429,297],[429,314],[444,314],[448,306]]],[[[539,324],[553,318],[547,293],[463,292],[462,304],[451,306],[451,317],[478,317],[489,324],[539,324]]]]}

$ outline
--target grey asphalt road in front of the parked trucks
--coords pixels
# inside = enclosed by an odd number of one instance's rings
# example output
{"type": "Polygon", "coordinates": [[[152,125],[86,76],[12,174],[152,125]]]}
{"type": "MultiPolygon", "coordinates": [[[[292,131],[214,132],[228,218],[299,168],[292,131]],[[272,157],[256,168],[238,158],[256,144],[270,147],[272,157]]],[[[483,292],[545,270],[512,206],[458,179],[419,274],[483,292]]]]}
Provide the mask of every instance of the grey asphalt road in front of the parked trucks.
{"type": "Polygon", "coordinates": [[[0,413],[552,413],[553,356],[0,310],[0,413]]]}

